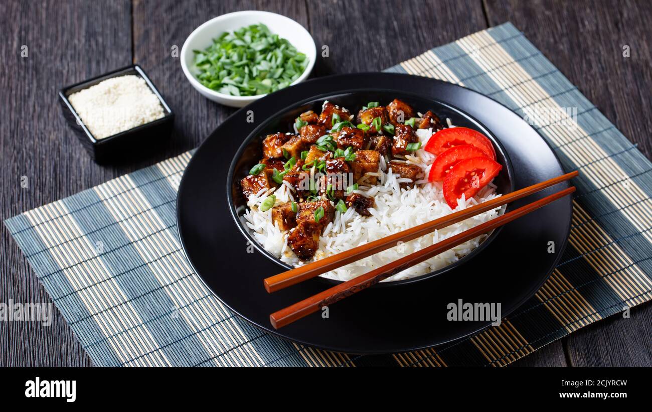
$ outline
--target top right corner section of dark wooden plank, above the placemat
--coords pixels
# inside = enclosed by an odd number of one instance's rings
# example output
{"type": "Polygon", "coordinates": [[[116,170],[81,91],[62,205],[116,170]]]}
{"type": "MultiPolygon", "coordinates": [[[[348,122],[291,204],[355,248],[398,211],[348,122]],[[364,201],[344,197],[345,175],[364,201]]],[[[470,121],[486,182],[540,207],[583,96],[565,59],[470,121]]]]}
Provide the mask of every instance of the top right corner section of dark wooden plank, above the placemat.
{"type": "Polygon", "coordinates": [[[652,158],[652,2],[486,0],[490,25],[510,21],[652,158]],[[630,57],[623,57],[623,46],[630,57]]]}

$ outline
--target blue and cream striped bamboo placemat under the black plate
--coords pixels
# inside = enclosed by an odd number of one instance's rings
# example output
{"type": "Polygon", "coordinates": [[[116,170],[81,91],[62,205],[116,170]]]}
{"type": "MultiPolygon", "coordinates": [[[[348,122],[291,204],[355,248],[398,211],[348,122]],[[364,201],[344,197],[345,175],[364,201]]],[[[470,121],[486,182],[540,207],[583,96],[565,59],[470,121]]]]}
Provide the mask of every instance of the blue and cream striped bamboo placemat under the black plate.
{"type": "Polygon", "coordinates": [[[652,296],[650,162],[511,23],[390,68],[491,96],[580,169],[569,246],[522,308],[452,344],[396,355],[291,344],[234,316],[203,286],[177,237],[175,196],[191,153],[5,221],[98,366],[503,366],[652,296]]]}

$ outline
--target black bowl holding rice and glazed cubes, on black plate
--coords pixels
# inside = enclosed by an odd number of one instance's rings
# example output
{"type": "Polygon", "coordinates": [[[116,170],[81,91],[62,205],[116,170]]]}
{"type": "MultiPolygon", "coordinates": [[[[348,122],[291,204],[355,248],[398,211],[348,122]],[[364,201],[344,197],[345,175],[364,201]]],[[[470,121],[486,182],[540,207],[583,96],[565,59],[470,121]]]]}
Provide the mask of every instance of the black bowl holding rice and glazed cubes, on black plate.
{"type": "MultiPolygon", "coordinates": [[[[263,254],[265,257],[272,259],[275,263],[283,267],[285,270],[293,269],[287,263],[283,263],[280,259],[276,258],[270,252],[267,252],[261,246],[256,239],[254,238],[254,231],[248,228],[243,224],[241,216],[243,216],[244,211],[246,211],[246,199],[242,194],[240,188],[240,181],[246,175],[249,174],[252,166],[258,164],[259,160],[263,157],[262,154],[262,141],[268,134],[273,134],[277,132],[292,132],[293,124],[295,119],[299,114],[304,111],[313,110],[316,113],[321,111],[321,105],[324,100],[333,102],[338,106],[347,108],[351,113],[357,113],[357,111],[364,106],[367,102],[380,102],[380,104],[385,105],[394,100],[394,98],[399,98],[404,102],[408,103],[416,111],[425,113],[428,110],[432,110],[436,115],[445,121],[445,119],[451,119],[453,125],[464,126],[467,128],[472,128],[478,130],[485,136],[488,136],[492,143],[494,143],[494,148],[496,149],[496,161],[503,166],[503,170],[499,175],[494,179],[494,184],[497,186],[497,192],[500,194],[507,194],[514,190],[514,181],[512,179],[513,169],[512,164],[509,160],[509,156],[505,152],[505,149],[500,143],[499,138],[494,136],[491,130],[488,130],[482,123],[477,121],[469,115],[468,113],[451,106],[450,104],[445,104],[434,98],[426,98],[424,96],[415,95],[412,93],[396,91],[387,91],[382,89],[356,89],[347,91],[346,93],[337,93],[335,95],[321,95],[304,100],[302,102],[297,102],[289,107],[283,108],[275,113],[273,116],[265,119],[256,127],[243,141],[242,145],[238,149],[233,162],[231,162],[231,167],[229,169],[229,174],[227,178],[227,187],[231,188],[228,191],[228,204],[230,205],[231,216],[235,220],[235,224],[243,233],[246,240],[254,245],[258,251],[263,254]]],[[[502,212],[505,211],[503,207],[502,212]]],[[[447,267],[443,267],[437,271],[430,272],[427,274],[422,274],[421,276],[416,276],[414,278],[403,279],[403,280],[394,280],[393,282],[381,282],[376,284],[373,287],[387,287],[387,286],[398,286],[403,284],[409,284],[412,282],[418,282],[420,280],[425,280],[432,276],[437,276],[442,272],[449,271],[458,265],[464,264],[467,260],[472,259],[473,256],[476,256],[483,248],[485,248],[489,243],[491,243],[496,236],[498,235],[501,228],[494,230],[482,243],[475,248],[471,253],[462,257],[458,261],[451,263],[447,267]]],[[[318,278],[323,282],[329,284],[339,284],[342,281],[333,280],[328,278],[318,278]]]]}

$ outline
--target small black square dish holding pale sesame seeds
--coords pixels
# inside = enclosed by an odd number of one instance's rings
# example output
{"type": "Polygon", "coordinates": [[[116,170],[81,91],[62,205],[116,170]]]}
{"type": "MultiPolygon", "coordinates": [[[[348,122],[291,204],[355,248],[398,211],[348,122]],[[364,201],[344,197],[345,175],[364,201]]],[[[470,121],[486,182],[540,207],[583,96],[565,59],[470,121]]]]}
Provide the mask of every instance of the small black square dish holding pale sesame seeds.
{"type": "Polygon", "coordinates": [[[170,106],[168,106],[160,93],[158,93],[158,90],[152,81],[149,80],[147,74],[145,74],[143,69],[138,65],[119,68],[118,70],[102,74],[95,78],[64,87],[59,91],[59,98],[61,98],[60,103],[63,110],[63,117],[65,117],[75,132],[77,132],[82,145],[87,149],[87,151],[89,151],[89,153],[91,153],[91,156],[93,156],[93,159],[97,163],[118,161],[121,160],[121,158],[124,158],[126,154],[133,155],[134,153],[145,153],[146,151],[149,151],[149,149],[153,149],[155,145],[160,145],[162,140],[170,136],[174,121],[174,113],[172,113],[170,106]],[[160,101],[166,114],[160,119],[156,119],[150,123],[145,123],[145,125],[125,130],[124,132],[108,136],[107,138],[96,139],[95,136],[91,134],[90,130],[83,125],[80,115],[74,110],[72,104],[70,104],[68,96],[96,85],[97,83],[100,83],[100,81],[128,74],[134,74],[145,80],[147,86],[149,86],[151,91],[160,101]]]}

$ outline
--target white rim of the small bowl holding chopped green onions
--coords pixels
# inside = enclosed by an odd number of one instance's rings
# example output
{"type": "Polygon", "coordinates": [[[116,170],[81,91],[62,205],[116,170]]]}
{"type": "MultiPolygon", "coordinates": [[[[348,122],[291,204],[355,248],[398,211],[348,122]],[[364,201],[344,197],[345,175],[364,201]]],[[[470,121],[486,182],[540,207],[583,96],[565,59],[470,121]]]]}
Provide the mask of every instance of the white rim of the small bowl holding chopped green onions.
{"type": "MultiPolygon", "coordinates": [[[[231,100],[233,102],[251,102],[253,100],[257,100],[258,98],[261,98],[263,96],[267,96],[267,95],[270,94],[270,93],[266,93],[264,95],[254,95],[254,96],[232,96],[232,95],[225,95],[224,93],[219,93],[219,92],[217,92],[217,91],[215,91],[213,89],[209,89],[205,85],[201,84],[200,81],[198,81],[195,78],[195,76],[192,74],[192,72],[190,72],[190,67],[188,67],[188,65],[186,64],[186,59],[185,59],[186,54],[187,53],[192,53],[192,50],[190,50],[190,46],[188,46],[188,44],[190,43],[191,40],[194,39],[194,37],[198,36],[198,34],[201,31],[203,31],[204,29],[206,29],[207,27],[209,27],[210,25],[212,25],[215,22],[220,22],[222,20],[228,20],[230,18],[245,15],[245,14],[254,14],[254,15],[259,15],[259,16],[271,16],[271,15],[278,16],[280,18],[284,18],[284,19],[289,20],[290,22],[295,23],[296,25],[298,25],[300,27],[299,32],[302,35],[305,35],[308,38],[310,38],[310,44],[312,44],[312,48],[309,51],[309,53],[306,53],[306,57],[308,57],[308,59],[309,59],[308,60],[308,65],[306,66],[305,70],[303,70],[303,73],[301,74],[301,76],[299,76],[299,78],[297,78],[297,80],[290,83],[290,86],[295,85],[297,83],[301,83],[301,81],[306,80],[306,78],[310,75],[310,73],[312,72],[312,68],[315,65],[315,61],[317,59],[317,46],[315,44],[314,38],[312,38],[312,35],[310,35],[310,32],[305,27],[303,27],[303,25],[301,25],[301,23],[297,22],[296,20],[293,20],[293,19],[289,18],[288,16],[284,16],[284,15],[278,14],[278,13],[266,12],[266,11],[263,11],[263,10],[242,10],[242,11],[239,11],[239,12],[220,14],[220,16],[216,16],[216,17],[212,18],[211,20],[207,20],[206,22],[201,23],[201,25],[199,25],[196,29],[194,29],[192,31],[192,33],[190,33],[190,35],[188,35],[186,40],[183,42],[183,46],[181,46],[181,53],[179,54],[179,59],[181,60],[181,69],[183,70],[183,74],[185,74],[186,78],[188,79],[188,81],[190,81],[190,84],[192,84],[192,86],[195,89],[198,89],[198,90],[202,91],[203,93],[208,93],[209,95],[213,95],[215,97],[222,98],[224,100],[231,100]]],[[[264,22],[261,22],[261,23],[264,23],[264,22]]]]}

